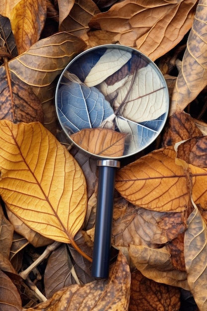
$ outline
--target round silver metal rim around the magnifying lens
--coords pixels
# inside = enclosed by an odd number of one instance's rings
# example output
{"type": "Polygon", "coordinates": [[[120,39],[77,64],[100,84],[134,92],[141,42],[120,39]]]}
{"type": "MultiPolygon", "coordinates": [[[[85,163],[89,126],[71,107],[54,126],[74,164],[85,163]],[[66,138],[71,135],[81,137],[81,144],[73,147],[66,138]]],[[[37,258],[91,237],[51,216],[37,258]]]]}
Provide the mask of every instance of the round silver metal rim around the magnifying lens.
{"type": "Polygon", "coordinates": [[[168,113],[169,113],[169,91],[168,91],[168,87],[167,87],[167,83],[165,81],[165,78],[163,77],[160,69],[157,67],[157,65],[148,58],[148,56],[146,56],[145,54],[141,53],[140,51],[138,51],[137,49],[135,48],[132,48],[132,47],[128,47],[128,46],[125,46],[125,45],[121,45],[121,44],[103,44],[103,45],[98,45],[98,46],[95,46],[95,47],[92,47],[92,48],[89,48],[88,50],[85,50],[81,53],[79,53],[78,55],[76,55],[70,62],[69,64],[67,65],[67,67],[64,69],[64,71],[62,72],[60,78],[58,79],[58,83],[57,83],[57,87],[56,87],[56,92],[55,92],[55,107],[56,107],[56,115],[57,115],[57,118],[58,118],[58,121],[63,129],[63,131],[65,132],[66,136],[69,138],[69,141],[71,142],[71,145],[73,146],[76,146],[78,149],[82,150],[84,153],[88,154],[89,156],[92,156],[92,157],[96,157],[96,158],[100,158],[100,159],[123,159],[125,157],[128,157],[128,156],[133,156],[133,155],[136,155],[138,154],[139,152],[141,152],[142,150],[144,150],[145,148],[147,148],[148,146],[151,145],[151,143],[153,143],[156,138],[159,136],[159,134],[161,133],[161,131],[163,130],[164,126],[165,126],[165,123],[166,123],[166,120],[167,120],[167,117],[168,117],[168,113]],[[163,85],[165,86],[165,91],[166,91],[166,112],[165,112],[165,118],[164,120],[162,120],[162,124],[160,125],[160,128],[159,130],[157,131],[156,135],[153,136],[153,138],[151,140],[149,140],[149,142],[145,145],[143,145],[141,148],[139,148],[138,150],[135,149],[134,152],[132,153],[129,153],[129,154],[126,154],[126,155],[123,155],[123,156],[115,156],[115,157],[110,157],[110,156],[100,156],[100,155],[95,155],[93,153],[90,153],[89,151],[83,149],[81,146],[79,146],[78,144],[76,144],[72,139],[71,137],[69,136],[69,133],[67,132],[66,128],[63,126],[62,124],[62,121],[61,121],[61,118],[60,118],[60,115],[58,113],[58,90],[60,88],[60,84],[61,84],[61,81],[64,77],[64,74],[65,72],[69,69],[69,67],[74,63],[76,62],[79,58],[83,57],[85,54],[87,53],[91,53],[93,51],[96,51],[97,49],[102,49],[102,48],[106,48],[106,49],[121,49],[121,50],[125,50],[125,51],[128,51],[128,52],[134,52],[135,54],[139,54],[141,57],[143,57],[145,60],[146,60],[146,63],[148,64],[151,64],[153,66],[153,69],[156,71],[158,77],[162,80],[162,83],[163,85]]]}

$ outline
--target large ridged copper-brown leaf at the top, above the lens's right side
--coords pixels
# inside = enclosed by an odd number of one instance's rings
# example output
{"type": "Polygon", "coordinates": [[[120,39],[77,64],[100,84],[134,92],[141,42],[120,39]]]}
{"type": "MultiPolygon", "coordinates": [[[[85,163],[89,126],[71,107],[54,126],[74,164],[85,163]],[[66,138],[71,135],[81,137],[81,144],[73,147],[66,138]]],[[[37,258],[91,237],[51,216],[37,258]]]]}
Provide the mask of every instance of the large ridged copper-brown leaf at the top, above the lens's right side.
{"type": "Polygon", "coordinates": [[[196,0],[124,0],[94,16],[89,26],[113,33],[114,42],[136,47],[155,60],[178,44],[191,28],[195,4],[196,0]]]}

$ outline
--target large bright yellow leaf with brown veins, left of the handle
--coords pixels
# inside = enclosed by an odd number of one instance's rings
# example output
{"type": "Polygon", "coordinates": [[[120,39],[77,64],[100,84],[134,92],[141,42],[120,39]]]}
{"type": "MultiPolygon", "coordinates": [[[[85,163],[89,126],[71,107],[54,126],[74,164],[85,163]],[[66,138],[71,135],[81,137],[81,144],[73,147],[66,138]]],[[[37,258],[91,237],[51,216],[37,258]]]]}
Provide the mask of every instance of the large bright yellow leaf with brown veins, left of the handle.
{"type": "Polygon", "coordinates": [[[27,226],[61,242],[81,227],[86,184],[77,162],[40,123],[0,121],[0,194],[27,226]]]}

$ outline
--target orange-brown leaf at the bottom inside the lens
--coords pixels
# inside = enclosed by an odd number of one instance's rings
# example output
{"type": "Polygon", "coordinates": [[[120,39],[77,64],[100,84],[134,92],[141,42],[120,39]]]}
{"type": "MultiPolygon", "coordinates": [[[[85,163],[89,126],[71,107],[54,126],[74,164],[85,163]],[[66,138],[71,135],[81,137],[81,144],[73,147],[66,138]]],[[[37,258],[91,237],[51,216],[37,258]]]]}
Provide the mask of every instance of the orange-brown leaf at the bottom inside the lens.
{"type": "Polygon", "coordinates": [[[72,141],[83,150],[97,155],[119,157],[123,156],[127,134],[111,129],[83,129],[70,135],[72,141]]]}

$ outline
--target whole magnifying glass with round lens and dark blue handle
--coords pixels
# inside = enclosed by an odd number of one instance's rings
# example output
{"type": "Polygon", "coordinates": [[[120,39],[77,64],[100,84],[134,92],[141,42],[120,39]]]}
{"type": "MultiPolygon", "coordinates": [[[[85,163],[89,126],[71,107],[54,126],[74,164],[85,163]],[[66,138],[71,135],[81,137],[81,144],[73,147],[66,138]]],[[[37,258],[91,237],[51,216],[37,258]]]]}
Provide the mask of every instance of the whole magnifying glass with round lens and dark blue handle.
{"type": "Polygon", "coordinates": [[[167,84],[138,50],[101,45],[68,64],[55,103],[71,143],[98,159],[92,276],[108,278],[116,170],[122,158],[148,147],[162,131],[169,110],[167,84]]]}

